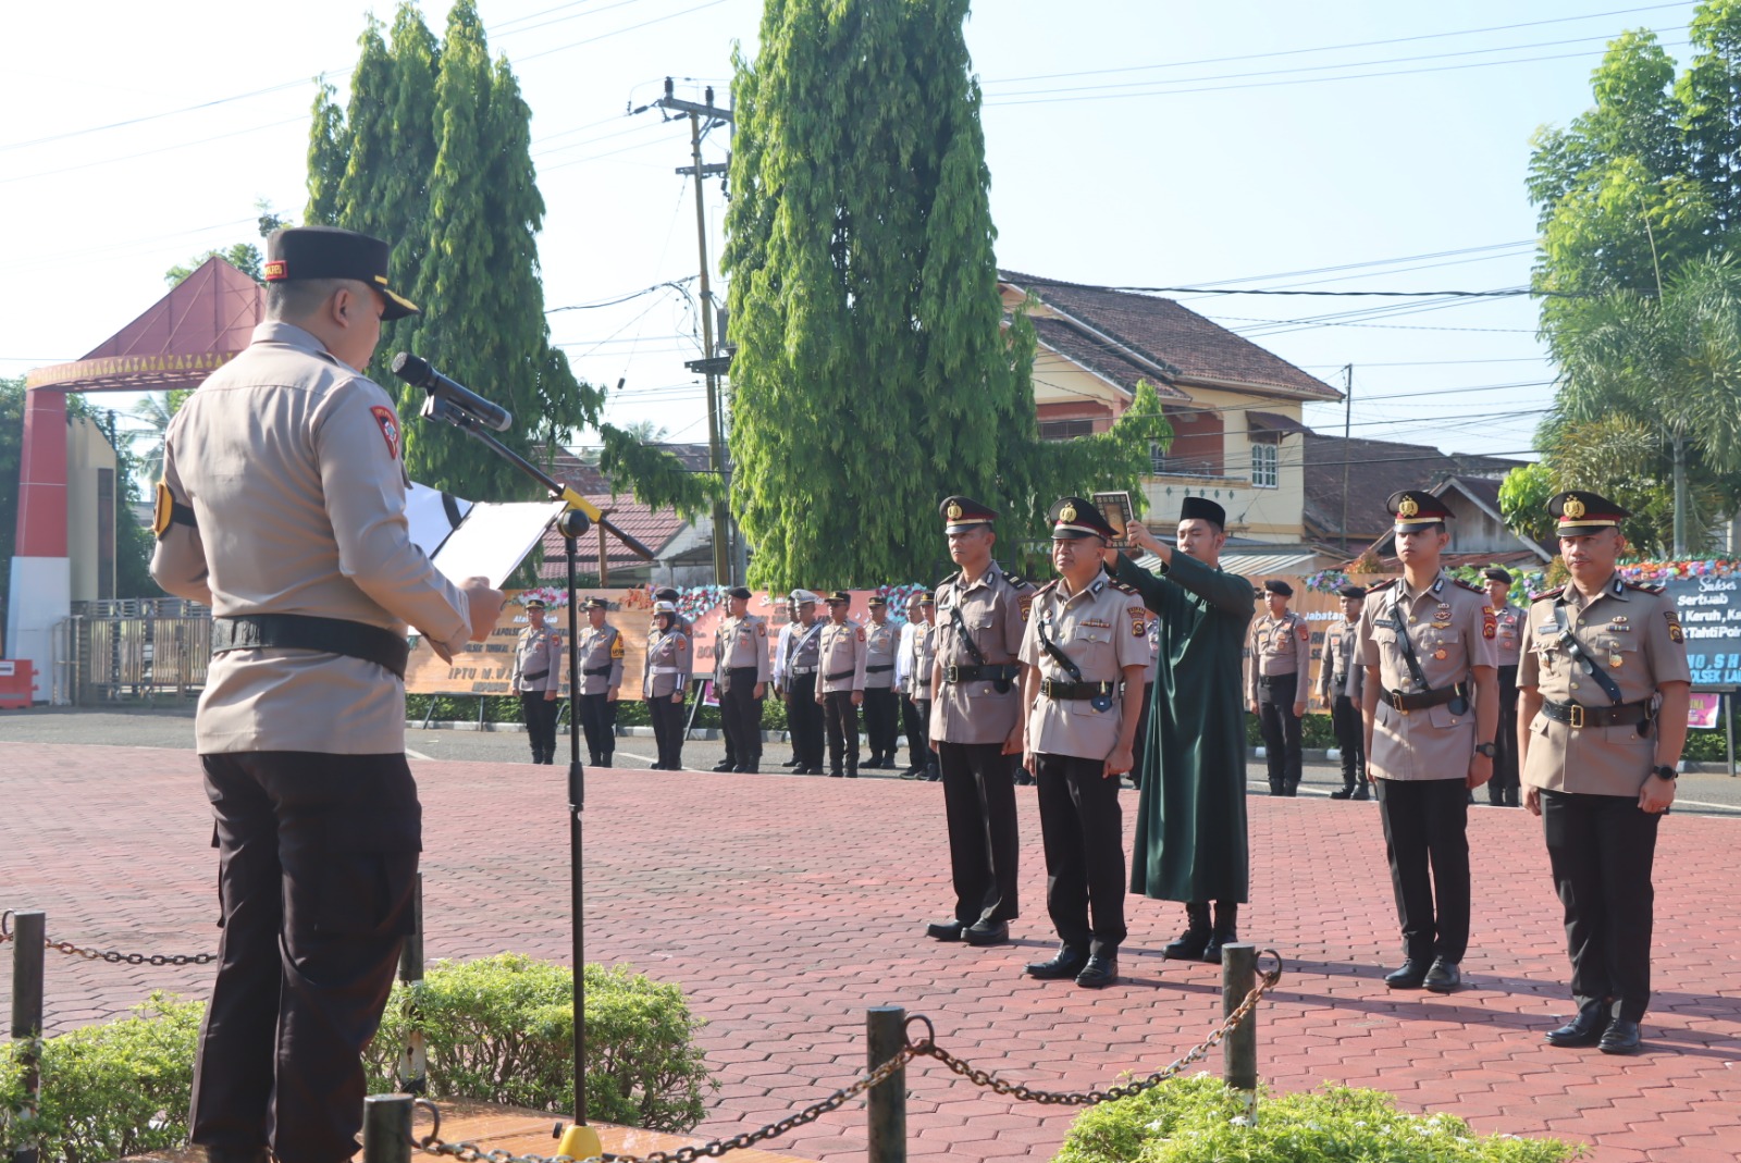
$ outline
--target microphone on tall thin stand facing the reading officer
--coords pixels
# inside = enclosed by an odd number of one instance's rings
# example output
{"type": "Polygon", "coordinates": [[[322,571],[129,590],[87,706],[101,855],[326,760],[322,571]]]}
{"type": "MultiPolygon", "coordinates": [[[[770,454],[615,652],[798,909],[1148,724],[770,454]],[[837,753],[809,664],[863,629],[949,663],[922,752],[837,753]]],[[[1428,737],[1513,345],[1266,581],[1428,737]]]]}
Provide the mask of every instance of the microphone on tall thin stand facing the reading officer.
{"type": "MultiPolygon", "coordinates": [[[[510,449],[491,435],[475,416],[453,400],[430,395],[423,400],[423,418],[440,420],[460,428],[468,437],[481,440],[505,461],[541,484],[552,500],[568,505],[555,519],[557,533],[568,547],[568,890],[571,911],[571,956],[575,959],[575,1121],[562,1130],[562,1142],[557,1154],[571,1160],[592,1160],[604,1154],[599,1132],[587,1125],[587,921],[585,921],[585,864],[581,860],[581,811],[587,806],[587,770],[580,763],[580,627],[578,599],[575,595],[575,541],[580,540],[592,522],[611,528],[599,508],[573,487],[555,481],[534,463],[510,449]]],[[[615,531],[615,529],[613,529],[615,531]]],[[[623,536],[616,531],[618,536],[623,536]]],[[[630,538],[632,540],[632,538],[630,538]]],[[[561,1125],[559,1125],[561,1126],[561,1125]]]]}

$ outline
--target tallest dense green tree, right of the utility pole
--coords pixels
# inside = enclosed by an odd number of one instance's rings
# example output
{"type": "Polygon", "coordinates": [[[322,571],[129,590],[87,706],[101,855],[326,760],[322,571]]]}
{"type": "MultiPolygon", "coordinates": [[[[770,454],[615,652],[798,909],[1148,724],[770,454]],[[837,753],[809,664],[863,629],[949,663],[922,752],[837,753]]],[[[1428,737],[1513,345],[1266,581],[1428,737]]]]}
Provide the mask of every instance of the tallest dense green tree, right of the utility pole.
{"type": "Polygon", "coordinates": [[[1050,500],[1111,475],[1099,454],[1146,456],[1168,432],[1151,392],[1118,437],[1038,440],[1032,327],[1003,326],[966,12],[771,0],[761,56],[735,59],[731,501],[757,585],[931,576],[951,493],[1005,515],[1008,559],[1050,500]]]}

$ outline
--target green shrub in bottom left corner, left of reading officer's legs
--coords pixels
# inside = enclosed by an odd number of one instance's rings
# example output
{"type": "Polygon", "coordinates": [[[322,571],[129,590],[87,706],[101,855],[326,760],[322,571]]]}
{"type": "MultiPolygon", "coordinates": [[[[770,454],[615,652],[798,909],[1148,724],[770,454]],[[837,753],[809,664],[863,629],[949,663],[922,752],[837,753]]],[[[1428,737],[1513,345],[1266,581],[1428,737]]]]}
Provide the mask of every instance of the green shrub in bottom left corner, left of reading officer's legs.
{"type": "Polygon", "coordinates": [[[0,1046],[0,1154],[42,1135],[45,1163],[120,1160],[181,1146],[188,1137],[193,1052],[205,1003],[153,992],[134,1017],[42,1041],[42,1106],[24,1106],[17,1043],[0,1046]]]}

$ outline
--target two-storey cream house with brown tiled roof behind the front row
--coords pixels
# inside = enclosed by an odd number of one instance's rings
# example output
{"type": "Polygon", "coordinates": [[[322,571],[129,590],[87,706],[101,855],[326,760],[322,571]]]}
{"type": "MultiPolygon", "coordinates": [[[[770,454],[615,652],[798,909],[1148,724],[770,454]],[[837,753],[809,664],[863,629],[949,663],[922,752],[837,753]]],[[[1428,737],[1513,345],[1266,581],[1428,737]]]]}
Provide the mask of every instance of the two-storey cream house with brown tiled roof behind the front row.
{"type": "Polygon", "coordinates": [[[1025,305],[1034,324],[1041,437],[1106,432],[1147,381],[1173,427],[1144,481],[1154,519],[1166,524],[1184,496],[1208,496],[1243,540],[1306,540],[1301,409],[1341,392],[1158,294],[1020,272],[999,279],[1005,310],[1025,305]]]}

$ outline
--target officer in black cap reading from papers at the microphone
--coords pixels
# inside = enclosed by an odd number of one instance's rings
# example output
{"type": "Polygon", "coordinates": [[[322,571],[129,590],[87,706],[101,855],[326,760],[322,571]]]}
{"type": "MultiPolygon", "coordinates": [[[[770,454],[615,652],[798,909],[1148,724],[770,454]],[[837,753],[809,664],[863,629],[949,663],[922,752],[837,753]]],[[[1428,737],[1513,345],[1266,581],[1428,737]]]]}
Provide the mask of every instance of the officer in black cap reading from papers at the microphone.
{"type": "Polygon", "coordinates": [[[212,608],[193,729],[223,940],[192,1107],[212,1163],[357,1151],[421,841],[406,627],[446,660],[501,615],[484,578],[454,585],[411,543],[399,414],[359,371],[418,310],[387,256],[275,232],[265,322],[164,434],[151,576],[212,608]]]}

